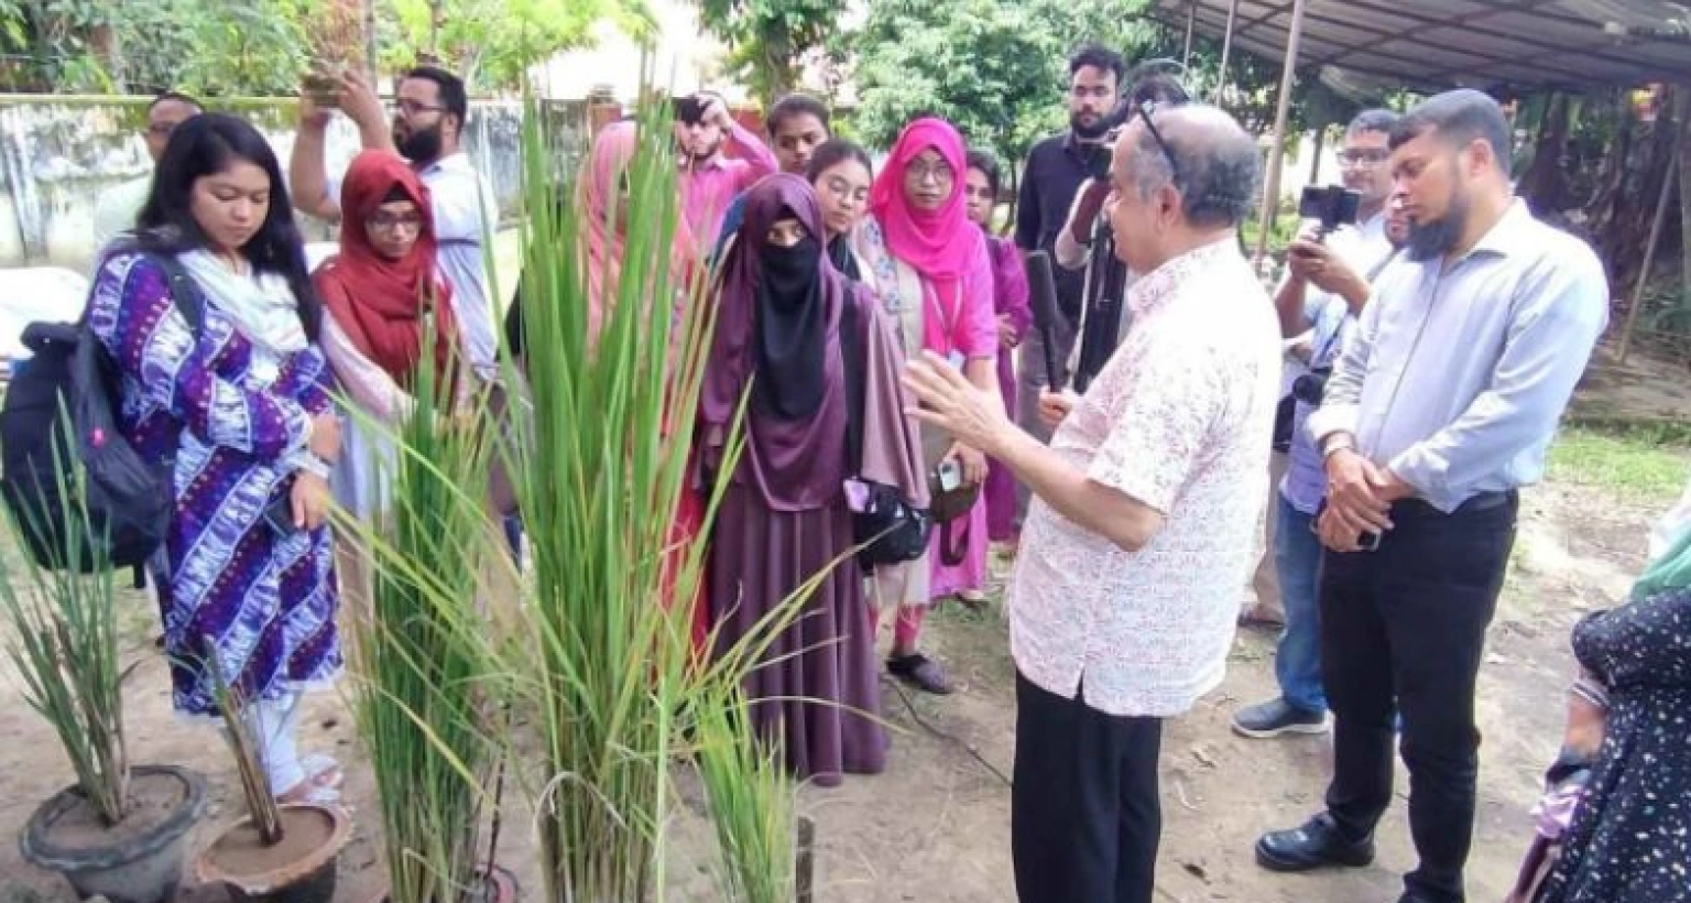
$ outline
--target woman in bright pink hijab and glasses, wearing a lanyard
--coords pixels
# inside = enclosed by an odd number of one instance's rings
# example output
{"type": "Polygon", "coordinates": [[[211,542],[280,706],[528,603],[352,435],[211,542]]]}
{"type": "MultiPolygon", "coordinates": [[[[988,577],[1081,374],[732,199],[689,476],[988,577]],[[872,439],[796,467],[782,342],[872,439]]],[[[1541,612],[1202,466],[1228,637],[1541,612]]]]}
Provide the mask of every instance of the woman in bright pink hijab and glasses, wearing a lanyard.
{"type": "MultiPolygon", "coordinates": [[[[900,326],[906,357],[930,350],[974,386],[996,392],[993,264],[984,235],[966,213],[964,154],[962,135],[949,122],[911,122],[874,181],[856,245],[869,267],[866,281],[900,326]]],[[[964,484],[986,480],[986,457],[939,430],[922,430],[922,452],[928,472],[945,465],[960,472],[964,484]]],[[[984,548],[984,538],[986,507],[977,502],[967,516],[933,529],[925,556],[876,570],[871,600],[883,612],[898,609],[886,666],[900,680],[930,693],[952,690],[945,670],[918,649],[922,621],[935,600],[984,585],[986,556],[967,555],[969,546],[984,548]]]]}

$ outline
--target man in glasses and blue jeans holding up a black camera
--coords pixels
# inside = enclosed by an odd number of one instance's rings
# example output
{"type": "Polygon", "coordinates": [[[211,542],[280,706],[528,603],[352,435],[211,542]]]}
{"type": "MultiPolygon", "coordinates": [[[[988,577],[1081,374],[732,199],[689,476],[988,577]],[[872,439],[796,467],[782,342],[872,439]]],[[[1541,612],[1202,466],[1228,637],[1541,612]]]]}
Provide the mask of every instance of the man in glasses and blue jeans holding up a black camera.
{"type": "MultiPolygon", "coordinates": [[[[1356,225],[1341,227],[1319,238],[1312,230],[1292,242],[1289,269],[1275,308],[1280,315],[1280,331],[1285,338],[1305,337],[1294,347],[1290,369],[1295,377],[1333,370],[1333,364],[1354,328],[1363,304],[1368,301],[1366,281],[1353,284],[1348,294],[1324,291],[1326,276],[1312,272],[1314,265],[1331,255],[1349,272],[1376,271],[1390,255],[1387,240],[1387,196],[1392,191],[1392,172],[1385,161],[1390,156],[1387,140],[1397,113],[1366,110],[1351,120],[1344,130],[1344,149],[1339,152],[1344,188],[1361,194],[1356,225]]],[[[1304,379],[1304,386],[1314,386],[1304,379]]],[[[1304,419],[1319,397],[1294,401],[1292,443],[1287,448],[1287,472],[1277,487],[1270,507],[1273,517],[1275,570],[1280,583],[1280,602],[1285,607],[1285,629],[1275,651],[1275,680],[1280,695],[1246,707],[1233,717],[1233,731],[1245,737],[1280,737],[1285,734],[1324,734],[1327,731],[1327,697],[1321,685],[1321,627],[1316,612],[1316,572],[1321,566],[1321,539],[1311,524],[1327,479],[1321,467],[1321,452],[1304,431],[1304,419]]]]}

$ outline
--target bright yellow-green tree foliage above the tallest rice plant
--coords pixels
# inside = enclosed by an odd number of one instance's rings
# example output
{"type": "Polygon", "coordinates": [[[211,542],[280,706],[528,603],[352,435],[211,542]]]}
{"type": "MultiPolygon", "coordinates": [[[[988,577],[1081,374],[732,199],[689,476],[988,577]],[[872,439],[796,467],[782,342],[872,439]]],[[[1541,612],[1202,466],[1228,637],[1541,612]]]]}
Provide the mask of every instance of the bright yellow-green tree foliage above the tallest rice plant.
{"type": "Polygon", "coordinates": [[[397,24],[382,36],[380,61],[404,69],[431,59],[482,90],[519,88],[529,68],[592,42],[610,20],[636,39],[656,22],[644,0],[380,0],[397,24]]]}

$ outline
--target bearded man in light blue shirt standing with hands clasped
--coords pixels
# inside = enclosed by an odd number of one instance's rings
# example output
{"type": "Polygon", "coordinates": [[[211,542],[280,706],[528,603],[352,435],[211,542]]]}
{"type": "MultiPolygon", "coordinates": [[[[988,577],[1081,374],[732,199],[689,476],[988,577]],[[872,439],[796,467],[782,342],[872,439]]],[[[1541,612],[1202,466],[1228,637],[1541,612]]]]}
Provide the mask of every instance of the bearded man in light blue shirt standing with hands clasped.
{"type": "Polygon", "coordinates": [[[1373,861],[1400,712],[1420,864],[1398,903],[1463,903],[1475,683],[1517,489],[1544,473],[1608,321],[1608,284],[1590,247],[1513,198],[1508,123],[1486,95],[1427,100],[1392,129],[1390,149],[1405,254],[1375,281],[1309,419],[1327,477],[1317,528],[1333,783],[1326,812],[1263,835],[1256,861],[1273,871],[1373,861]]]}

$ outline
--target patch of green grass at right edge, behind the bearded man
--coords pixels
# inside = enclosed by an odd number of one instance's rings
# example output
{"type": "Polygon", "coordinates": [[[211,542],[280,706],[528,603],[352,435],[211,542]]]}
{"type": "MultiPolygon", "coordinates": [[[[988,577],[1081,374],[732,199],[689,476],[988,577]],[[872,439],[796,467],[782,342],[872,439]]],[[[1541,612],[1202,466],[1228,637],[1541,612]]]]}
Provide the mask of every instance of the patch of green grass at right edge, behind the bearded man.
{"type": "Polygon", "coordinates": [[[1691,472],[1691,445],[1650,428],[1571,426],[1551,446],[1549,477],[1612,492],[1628,502],[1667,504],[1691,472]]]}

